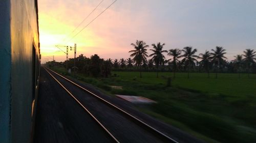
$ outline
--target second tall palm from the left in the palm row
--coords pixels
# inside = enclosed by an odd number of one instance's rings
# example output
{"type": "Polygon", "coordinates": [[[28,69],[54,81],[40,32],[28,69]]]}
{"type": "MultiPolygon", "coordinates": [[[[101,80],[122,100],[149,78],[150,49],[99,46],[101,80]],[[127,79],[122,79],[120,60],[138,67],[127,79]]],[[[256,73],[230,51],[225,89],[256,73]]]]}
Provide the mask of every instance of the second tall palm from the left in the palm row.
{"type": "Polygon", "coordinates": [[[161,43],[158,42],[157,45],[152,44],[153,49],[150,49],[153,51],[153,53],[150,54],[150,56],[153,56],[152,60],[155,62],[155,65],[157,68],[157,78],[158,78],[159,65],[161,66],[164,64],[165,57],[162,53],[167,52],[167,50],[162,50],[164,45],[165,45],[164,43],[161,45],[161,43]]]}

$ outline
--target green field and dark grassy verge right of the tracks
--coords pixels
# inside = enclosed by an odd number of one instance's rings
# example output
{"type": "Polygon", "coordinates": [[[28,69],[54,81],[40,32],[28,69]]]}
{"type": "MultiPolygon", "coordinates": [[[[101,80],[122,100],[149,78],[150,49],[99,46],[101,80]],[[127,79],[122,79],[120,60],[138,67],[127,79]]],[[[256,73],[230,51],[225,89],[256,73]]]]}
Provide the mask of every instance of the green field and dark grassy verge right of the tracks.
{"type": "MultiPolygon", "coordinates": [[[[65,69],[55,69],[66,72],[65,69]]],[[[256,141],[256,74],[177,73],[172,87],[166,78],[172,73],[112,72],[117,77],[91,78],[78,75],[81,80],[105,90],[109,94],[144,96],[157,101],[141,111],[178,127],[207,142],[256,141]],[[122,86],[112,89],[110,85],[122,86]],[[217,141],[218,140],[218,141],[217,141]]]]}

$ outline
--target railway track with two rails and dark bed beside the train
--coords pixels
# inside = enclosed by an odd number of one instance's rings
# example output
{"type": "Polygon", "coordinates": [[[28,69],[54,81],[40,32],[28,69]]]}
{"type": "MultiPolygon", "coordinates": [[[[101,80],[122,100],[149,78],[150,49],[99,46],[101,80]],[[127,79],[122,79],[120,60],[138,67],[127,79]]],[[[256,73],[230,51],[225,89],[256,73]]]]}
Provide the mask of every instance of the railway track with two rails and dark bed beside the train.
{"type": "Polygon", "coordinates": [[[48,68],[45,70],[114,142],[178,142],[66,77],[48,68]]]}

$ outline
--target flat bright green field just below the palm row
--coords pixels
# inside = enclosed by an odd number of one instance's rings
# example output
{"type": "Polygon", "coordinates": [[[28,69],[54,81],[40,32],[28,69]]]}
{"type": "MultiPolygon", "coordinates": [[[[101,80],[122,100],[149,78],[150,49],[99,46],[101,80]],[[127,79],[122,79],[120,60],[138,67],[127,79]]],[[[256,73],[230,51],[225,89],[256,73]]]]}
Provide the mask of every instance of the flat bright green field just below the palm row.
{"type": "MultiPolygon", "coordinates": [[[[156,78],[155,72],[144,72],[142,78],[139,78],[139,72],[112,72],[117,74],[117,79],[131,80],[137,77],[137,81],[150,84],[166,84],[164,77],[172,77],[173,73],[160,72],[159,78],[156,78]]],[[[207,78],[206,73],[190,73],[190,78],[187,78],[187,73],[176,73],[176,79],[172,81],[175,87],[196,90],[200,92],[208,92],[212,94],[223,94],[226,96],[256,96],[256,74],[238,74],[219,73],[218,78],[215,74],[210,74],[207,78]]]]}

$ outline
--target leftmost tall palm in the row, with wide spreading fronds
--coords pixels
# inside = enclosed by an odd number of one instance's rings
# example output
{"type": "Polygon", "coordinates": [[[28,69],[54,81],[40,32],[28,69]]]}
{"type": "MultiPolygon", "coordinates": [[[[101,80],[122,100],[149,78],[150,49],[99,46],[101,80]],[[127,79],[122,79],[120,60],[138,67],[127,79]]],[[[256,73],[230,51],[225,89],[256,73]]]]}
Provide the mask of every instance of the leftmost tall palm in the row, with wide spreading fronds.
{"type": "Polygon", "coordinates": [[[138,41],[138,40],[136,41],[136,44],[132,43],[131,45],[134,46],[135,50],[129,51],[129,52],[132,52],[130,56],[133,57],[133,61],[135,61],[136,65],[140,68],[140,78],[142,78],[141,63],[148,56],[146,52],[147,50],[146,48],[148,47],[148,45],[146,45],[145,42],[138,41]]]}

